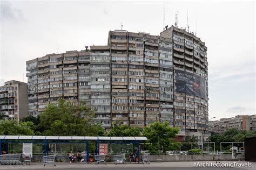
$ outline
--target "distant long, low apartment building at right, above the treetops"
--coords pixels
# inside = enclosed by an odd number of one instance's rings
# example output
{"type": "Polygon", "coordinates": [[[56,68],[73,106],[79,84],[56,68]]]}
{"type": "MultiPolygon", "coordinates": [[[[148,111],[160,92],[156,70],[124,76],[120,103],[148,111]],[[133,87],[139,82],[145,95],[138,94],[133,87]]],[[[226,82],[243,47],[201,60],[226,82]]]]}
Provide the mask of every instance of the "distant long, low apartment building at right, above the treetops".
{"type": "Polygon", "coordinates": [[[218,121],[209,121],[209,132],[214,133],[223,133],[228,129],[237,129],[237,130],[247,130],[254,128],[252,125],[255,125],[255,115],[237,115],[231,118],[221,118],[218,121]],[[253,117],[254,116],[254,117],[253,117]],[[251,122],[250,118],[253,120],[251,122]],[[251,124],[252,123],[252,124],[251,124]]]}

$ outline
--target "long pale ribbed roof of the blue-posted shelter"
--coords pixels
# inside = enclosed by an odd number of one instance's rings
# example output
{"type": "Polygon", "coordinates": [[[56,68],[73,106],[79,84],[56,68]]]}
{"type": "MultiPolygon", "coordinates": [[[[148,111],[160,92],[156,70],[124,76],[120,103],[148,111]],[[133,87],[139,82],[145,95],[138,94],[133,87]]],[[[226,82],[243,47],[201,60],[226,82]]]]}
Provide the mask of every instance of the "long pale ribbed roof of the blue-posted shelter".
{"type": "Polygon", "coordinates": [[[0,139],[10,140],[147,140],[146,137],[96,137],[96,136],[11,136],[1,135],[0,139]]]}

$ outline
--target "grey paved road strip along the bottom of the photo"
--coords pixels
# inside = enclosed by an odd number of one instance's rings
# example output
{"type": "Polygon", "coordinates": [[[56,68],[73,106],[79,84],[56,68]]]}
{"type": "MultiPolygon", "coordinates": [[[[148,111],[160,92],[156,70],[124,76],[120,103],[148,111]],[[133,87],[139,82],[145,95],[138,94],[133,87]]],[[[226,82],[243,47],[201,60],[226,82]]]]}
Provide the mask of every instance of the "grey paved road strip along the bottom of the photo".
{"type": "MultiPolygon", "coordinates": [[[[204,163],[203,161],[200,161],[201,163],[204,163]]],[[[231,161],[232,162],[232,161],[231,161]]],[[[245,161],[237,161],[239,163],[246,163],[245,161]]],[[[242,170],[242,169],[250,169],[250,170],[255,170],[256,169],[256,162],[252,162],[252,167],[251,168],[245,168],[245,167],[221,167],[221,168],[216,168],[216,167],[193,167],[194,162],[151,162],[151,164],[65,164],[65,163],[57,163],[57,166],[53,165],[46,165],[45,167],[43,164],[39,163],[32,163],[30,166],[29,165],[0,165],[0,169],[36,169],[36,170],[41,170],[41,169],[92,169],[92,170],[111,170],[111,169],[120,169],[120,170],[157,170],[157,169],[172,169],[172,170],[182,170],[182,169],[201,169],[201,170],[213,170],[213,169],[221,169],[221,170],[242,170]]],[[[221,163],[228,163],[228,161],[221,161],[221,163]]]]}

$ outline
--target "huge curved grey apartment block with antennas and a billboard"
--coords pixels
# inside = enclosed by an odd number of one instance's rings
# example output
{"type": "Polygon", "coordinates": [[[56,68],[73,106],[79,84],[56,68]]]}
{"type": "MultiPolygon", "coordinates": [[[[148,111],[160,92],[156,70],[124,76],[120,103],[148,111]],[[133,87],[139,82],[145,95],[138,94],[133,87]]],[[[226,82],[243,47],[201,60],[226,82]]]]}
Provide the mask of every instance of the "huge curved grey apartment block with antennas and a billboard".
{"type": "Polygon", "coordinates": [[[160,36],[110,31],[107,46],[26,62],[33,103],[29,113],[38,115],[61,97],[86,101],[106,129],[113,122],[144,127],[169,121],[180,128],[180,136],[203,139],[208,124],[206,52],[200,38],[173,26],[160,36]]]}

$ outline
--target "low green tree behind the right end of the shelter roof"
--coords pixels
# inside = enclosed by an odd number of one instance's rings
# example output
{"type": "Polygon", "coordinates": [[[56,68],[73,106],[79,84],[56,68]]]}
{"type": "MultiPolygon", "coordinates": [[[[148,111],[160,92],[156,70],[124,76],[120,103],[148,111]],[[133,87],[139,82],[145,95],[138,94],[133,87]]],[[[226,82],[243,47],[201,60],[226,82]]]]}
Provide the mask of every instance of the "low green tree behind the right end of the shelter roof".
{"type": "Polygon", "coordinates": [[[107,133],[107,136],[142,136],[142,129],[138,126],[118,125],[116,122],[114,122],[113,125],[113,128],[107,133]]]}

